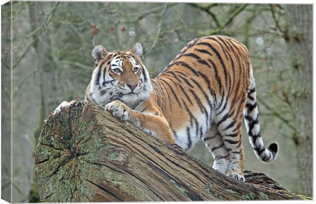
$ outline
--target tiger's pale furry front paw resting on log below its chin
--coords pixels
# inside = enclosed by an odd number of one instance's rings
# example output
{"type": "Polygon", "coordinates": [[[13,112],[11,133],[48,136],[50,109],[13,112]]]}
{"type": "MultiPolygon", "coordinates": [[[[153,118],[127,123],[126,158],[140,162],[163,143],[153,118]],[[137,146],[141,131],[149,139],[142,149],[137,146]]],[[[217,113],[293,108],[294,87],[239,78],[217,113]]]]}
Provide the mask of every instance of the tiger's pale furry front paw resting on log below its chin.
{"type": "Polygon", "coordinates": [[[119,100],[114,100],[107,104],[105,109],[112,113],[112,115],[122,121],[130,119],[130,109],[119,100]]]}

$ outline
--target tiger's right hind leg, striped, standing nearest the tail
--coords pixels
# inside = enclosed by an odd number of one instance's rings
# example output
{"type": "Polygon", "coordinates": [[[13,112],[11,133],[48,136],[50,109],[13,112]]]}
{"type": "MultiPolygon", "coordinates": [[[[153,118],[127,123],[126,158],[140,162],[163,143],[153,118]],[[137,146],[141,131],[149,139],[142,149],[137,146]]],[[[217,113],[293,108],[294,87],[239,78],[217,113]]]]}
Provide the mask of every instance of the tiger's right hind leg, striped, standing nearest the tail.
{"type": "Polygon", "coordinates": [[[244,182],[244,147],[242,144],[242,120],[241,117],[221,117],[217,123],[222,135],[224,146],[229,154],[229,166],[226,175],[244,182]]]}

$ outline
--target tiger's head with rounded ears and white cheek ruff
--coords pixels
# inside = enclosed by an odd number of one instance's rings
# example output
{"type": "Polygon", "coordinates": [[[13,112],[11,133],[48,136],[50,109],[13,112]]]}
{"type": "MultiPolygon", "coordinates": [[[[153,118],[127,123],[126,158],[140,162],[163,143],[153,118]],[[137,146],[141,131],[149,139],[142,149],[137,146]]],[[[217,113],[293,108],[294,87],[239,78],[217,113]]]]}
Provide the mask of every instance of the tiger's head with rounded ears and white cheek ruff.
{"type": "Polygon", "coordinates": [[[143,48],[136,43],[128,51],[108,52],[102,45],[92,51],[95,69],[90,97],[99,106],[120,100],[129,107],[146,100],[151,92],[149,73],[140,59],[143,48]]]}

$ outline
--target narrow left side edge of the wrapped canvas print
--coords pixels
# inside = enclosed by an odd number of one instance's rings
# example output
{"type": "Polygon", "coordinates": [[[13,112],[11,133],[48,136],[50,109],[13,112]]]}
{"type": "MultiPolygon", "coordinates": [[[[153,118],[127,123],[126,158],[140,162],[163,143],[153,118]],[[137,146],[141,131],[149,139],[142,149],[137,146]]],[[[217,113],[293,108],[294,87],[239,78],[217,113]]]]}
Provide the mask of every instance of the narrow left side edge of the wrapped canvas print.
{"type": "Polygon", "coordinates": [[[7,202],[12,202],[11,23],[10,2],[1,5],[1,199],[7,202]]]}

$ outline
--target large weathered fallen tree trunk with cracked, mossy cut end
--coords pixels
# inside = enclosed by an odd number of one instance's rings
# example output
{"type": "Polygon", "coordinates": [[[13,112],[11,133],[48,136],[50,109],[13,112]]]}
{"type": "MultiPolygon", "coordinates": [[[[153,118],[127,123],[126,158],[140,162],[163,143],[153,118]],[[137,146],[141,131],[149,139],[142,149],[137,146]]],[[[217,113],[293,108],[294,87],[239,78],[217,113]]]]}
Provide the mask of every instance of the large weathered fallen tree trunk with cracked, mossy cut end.
{"type": "Polygon", "coordinates": [[[35,163],[44,202],[309,199],[259,172],[232,180],[87,102],[44,121],[35,163]]]}

